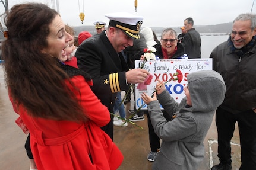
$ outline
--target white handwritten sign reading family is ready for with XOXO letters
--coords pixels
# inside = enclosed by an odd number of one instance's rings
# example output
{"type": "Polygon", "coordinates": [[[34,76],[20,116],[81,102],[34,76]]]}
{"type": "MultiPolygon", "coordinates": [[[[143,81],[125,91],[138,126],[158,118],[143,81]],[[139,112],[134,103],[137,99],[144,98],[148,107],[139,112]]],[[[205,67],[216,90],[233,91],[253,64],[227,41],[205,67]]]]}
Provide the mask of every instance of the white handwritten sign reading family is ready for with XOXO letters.
{"type": "MultiPolygon", "coordinates": [[[[135,68],[140,68],[142,63],[142,60],[135,60],[135,68]]],[[[137,109],[144,104],[144,101],[141,100],[141,94],[146,92],[151,96],[155,91],[157,79],[167,81],[165,84],[167,91],[177,102],[181,102],[182,98],[185,97],[183,88],[187,85],[187,75],[200,70],[212,70],[213,62],[212,59],[150,60],[145,63],[143,69],[150,72],[150,77],[141,84],[135,84],[135,105],[137,109]],[[175,80],[177,69],[182,73],[181,82],[175,80]]],[[[147,105],[141,108],[141,110],[146,109],[147,105]]]]}

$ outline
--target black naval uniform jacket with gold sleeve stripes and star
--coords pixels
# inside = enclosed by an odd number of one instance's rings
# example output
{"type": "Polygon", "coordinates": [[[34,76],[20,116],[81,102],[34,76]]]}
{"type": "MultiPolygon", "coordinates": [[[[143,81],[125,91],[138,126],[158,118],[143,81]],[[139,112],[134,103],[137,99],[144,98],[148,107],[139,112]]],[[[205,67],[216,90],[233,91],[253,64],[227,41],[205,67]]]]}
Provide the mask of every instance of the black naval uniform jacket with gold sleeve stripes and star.
{"type": "MultiPolygon", "coordinates": [[[[104,31],[83,41],[75,57],[78,68],[91,75],[93,92],[113,113],[116,92],[125,91],[129,87],[125,77],[128,66],[122,54],[116,53],[104,31]]],[[[113,139],[113,118],[107,126],[103,130],[113,139]]]]}

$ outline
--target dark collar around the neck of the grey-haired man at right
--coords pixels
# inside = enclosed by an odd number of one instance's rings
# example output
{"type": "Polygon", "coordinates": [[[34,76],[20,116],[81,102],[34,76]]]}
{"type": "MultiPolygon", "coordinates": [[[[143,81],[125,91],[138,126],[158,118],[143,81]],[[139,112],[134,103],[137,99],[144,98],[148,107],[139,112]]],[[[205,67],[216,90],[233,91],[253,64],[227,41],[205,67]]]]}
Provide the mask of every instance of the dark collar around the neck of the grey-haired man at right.
{"type": "Polygon", "coordinates": [[[236,49],[236,47],[234,46],[233,42],[231,41],[231,36],[229,36],[229,39],[227,40],[227,46],[230,48],[230,50],[237,54],[239,57],[243,56],[246,52],[249,51],[249,49],[251,49],[252,46],[254,46],[256,41],[256,36],[252,37],[252,40],[246,44],[246,46],[242,47],[241,49],[236,49]]]}

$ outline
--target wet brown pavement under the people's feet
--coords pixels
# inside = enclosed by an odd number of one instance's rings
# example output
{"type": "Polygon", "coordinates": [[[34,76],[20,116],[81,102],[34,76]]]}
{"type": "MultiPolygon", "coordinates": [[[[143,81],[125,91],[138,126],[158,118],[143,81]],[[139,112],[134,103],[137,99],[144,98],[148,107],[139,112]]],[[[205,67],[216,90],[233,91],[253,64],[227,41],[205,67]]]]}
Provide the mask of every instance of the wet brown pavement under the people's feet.
{"type": "MultiPolygon", "coordinates": [[[[122,92],[124,95],[124,92],[122,92]]],[[[131,97],[133,98],[133,97],[131,97]]],[[[125,110],[127,118],[129,109],[133,108],[131,100],[125,110]]],[[[8,92],[4,83],[4,72],[0,64],[0,169],[2,170],[29,170],[29,159],[24,149],[27,135],[15,124],[18,115],[13,111],[8,92]]],[[[215,119],[215,117],[214,117],[215,119]]],[[[204,139],[205,158],[198,170],[210,169],[219,163],[217,158],[217,129],[213,119],[210,130],[204,139]]],[[[144,121],[138,121],[140,129],[128,123],[127,127],[114,127],[114,142],[124,155],[124,161],[118,170],[148,170],[152,163],[147,160],[150,152],[148,139],[147,116],[144,121]]],[[[239,146],[238,125],[232,138],[232,170],[238,170],[241,165],[241,149],[239,146]]],[[[40,169],[39,169],[40,170],[40,169]]]]}

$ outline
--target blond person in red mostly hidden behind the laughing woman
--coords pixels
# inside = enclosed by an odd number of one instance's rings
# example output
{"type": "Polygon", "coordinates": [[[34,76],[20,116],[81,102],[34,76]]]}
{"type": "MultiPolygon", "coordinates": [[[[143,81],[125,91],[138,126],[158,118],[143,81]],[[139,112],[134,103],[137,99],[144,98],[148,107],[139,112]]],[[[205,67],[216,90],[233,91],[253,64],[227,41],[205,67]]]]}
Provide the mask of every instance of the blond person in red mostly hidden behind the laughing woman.
{"type": "Polygon", "coordinates": [[[74,56],[74,50],[77,49],[74,45],[74,43],[75,43],[75,31],[69,25],[65,25],[65,30],[67,31],[68,34],[70,34],[73,37],[73,39],[71,41],[69,41],[68,46],[65,47],[62,50],[62,58],[64,56],[67,57],[67,59],[63,60],[62,62],[64,62],[65,65],[69,65],[69,66],[73,66],[75,68],[78,68],[78,66],[77,66],[77,57],[74,56]]]}

